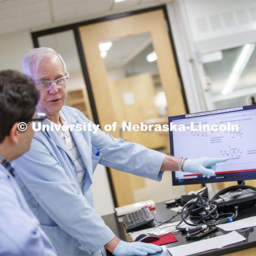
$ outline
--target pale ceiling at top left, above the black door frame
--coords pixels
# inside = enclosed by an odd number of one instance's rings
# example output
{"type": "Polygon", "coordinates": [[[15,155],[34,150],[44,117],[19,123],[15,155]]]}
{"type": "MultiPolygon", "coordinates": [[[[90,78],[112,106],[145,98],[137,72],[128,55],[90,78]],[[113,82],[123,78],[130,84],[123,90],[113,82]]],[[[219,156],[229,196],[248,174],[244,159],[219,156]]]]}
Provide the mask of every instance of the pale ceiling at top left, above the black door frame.
{"type": "Polygon", "coordinates": [[[172,0],[0,0],[0,35],[136,10],[172,0]]]}

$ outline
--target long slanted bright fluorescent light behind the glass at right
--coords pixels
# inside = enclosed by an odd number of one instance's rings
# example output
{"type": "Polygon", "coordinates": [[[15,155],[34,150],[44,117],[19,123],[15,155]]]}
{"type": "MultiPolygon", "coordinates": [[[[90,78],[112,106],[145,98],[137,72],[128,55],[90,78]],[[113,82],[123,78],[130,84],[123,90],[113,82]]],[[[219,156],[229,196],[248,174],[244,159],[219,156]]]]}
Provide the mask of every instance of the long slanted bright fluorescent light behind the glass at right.
{"type": "Polygon", "coordinates": [[[236,63],[228,77],[226,84],[223,87],[221,92],[222,95],[227,95],[232,92],[235,88],[236,83],[238,82],[241,74],[244,71],[244,68],[251,58],[252,52],[255,48],[255,44],[245,44],[241,53],[239,54],[236,63]]]}

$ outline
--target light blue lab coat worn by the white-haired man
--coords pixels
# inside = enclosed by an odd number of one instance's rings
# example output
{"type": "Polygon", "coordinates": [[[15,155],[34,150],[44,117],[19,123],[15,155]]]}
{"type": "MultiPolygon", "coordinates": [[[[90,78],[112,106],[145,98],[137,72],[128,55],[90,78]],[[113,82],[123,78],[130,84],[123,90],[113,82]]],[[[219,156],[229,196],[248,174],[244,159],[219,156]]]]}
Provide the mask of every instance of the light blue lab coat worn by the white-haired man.
{"type": "MultiPolygon", "coordinates": [[[[81,111],[63,107],[69,124],[89,123],[81,111]]],[[[46,119],[43,124],[50,124],[46,119]]],[[[27,154],[15,161],[18,183],[60,255],[101,255],[99,249],[115,234],[93,209],[90,186],[98,163],[142,177],[161,180],[165,154],[115,139],[99,130],[71,131],[86,167],[79,187],[72,157],[57,131],[36,132],[27,154]],[[102,156],[96,156],[97,151],[102,156]]],[[[129,191],[127,191],[129,193],[129,191]]]]}

